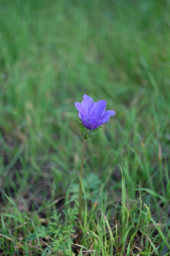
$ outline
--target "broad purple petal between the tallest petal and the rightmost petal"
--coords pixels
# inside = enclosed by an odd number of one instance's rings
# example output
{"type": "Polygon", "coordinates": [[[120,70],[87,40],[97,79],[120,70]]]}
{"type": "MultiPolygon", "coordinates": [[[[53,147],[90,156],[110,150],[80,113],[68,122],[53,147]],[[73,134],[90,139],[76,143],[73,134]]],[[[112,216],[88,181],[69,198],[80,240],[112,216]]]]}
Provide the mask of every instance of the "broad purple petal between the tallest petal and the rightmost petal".
{"type": "Polygon", "coordinates": [[[88,119],[92,117],[96,117],[98,120],[103,116],[106,108],[106,100],[99,100],[98,102],[94,102],[94,106],[89,111],[88,119]]]}

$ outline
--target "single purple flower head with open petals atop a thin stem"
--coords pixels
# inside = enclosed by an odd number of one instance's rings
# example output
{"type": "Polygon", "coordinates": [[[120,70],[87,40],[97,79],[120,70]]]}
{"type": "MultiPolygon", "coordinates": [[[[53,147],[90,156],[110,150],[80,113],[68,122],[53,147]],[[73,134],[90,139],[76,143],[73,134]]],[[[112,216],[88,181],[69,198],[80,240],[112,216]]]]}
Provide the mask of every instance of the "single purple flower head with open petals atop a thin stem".
{"type": "Polygon", "coordinates": [[[85,128],[94,130],[100,125],[106,124],[109,117],[115,115],[113,110],[105,111],[106,104],[106,100],[93,102],[93,99],[86,94],[83,96],[82,103],[75,102],[78,116],[85,128]]]}

